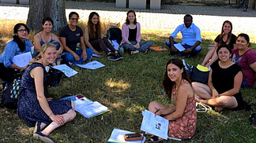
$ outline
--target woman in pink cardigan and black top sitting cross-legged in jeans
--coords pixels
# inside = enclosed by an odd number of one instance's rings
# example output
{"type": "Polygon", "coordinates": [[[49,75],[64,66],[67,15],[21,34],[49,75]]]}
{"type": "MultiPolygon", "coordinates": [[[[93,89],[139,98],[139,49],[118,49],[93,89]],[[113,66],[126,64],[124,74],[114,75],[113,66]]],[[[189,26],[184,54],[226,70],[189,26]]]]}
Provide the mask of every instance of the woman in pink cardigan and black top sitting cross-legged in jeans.
{"type": "Polygon", "coordinates": [[[121,44],[130,54],[147,53],[152,41],[141,42],[141,24],[136,20],[134,10],[127,12],[126,23],[122,24],[121,44]]]}

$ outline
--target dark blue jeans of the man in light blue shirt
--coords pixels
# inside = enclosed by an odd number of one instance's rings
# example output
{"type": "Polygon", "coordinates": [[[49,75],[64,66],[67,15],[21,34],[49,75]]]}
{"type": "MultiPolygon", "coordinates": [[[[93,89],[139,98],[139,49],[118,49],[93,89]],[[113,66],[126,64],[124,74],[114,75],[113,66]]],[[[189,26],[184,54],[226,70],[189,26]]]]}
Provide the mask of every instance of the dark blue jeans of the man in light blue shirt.
{"type": "MultiPolygon", "coordinates": [[[[177,44],[178,42],[175,42],[174,41],[174,44],[177,44]]],[[[171,43],[170,43],[170,40],[169,39],[167,39],[166,41],[165,41],[165,44],[169,47],[169,48],[171,48],[171,43]]],[[[185,49],[190,49],[191,48],[191,46],[190,45],[187,45],[187,44],[185,44],[185,45],[182,45],[185,49]]],[[[178,54],[179,54],[179,56],[180,57],[184,57],[184,56],[194,56],[195,54],[197,54],[197,53],[199,53],[201,51],[201,46],[197,46],[195,49],[193,49],[191,52],[189,52],[189,53],[183,53],[183,52],[179,52],[178,54]]]]}

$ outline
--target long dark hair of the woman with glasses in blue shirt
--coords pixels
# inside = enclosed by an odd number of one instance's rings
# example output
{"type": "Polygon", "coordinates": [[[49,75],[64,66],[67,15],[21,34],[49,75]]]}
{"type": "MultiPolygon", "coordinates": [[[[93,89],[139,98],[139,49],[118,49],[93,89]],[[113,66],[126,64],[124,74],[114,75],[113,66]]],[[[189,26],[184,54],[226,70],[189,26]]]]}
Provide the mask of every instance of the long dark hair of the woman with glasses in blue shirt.
{"type": "Polygon", "coordinates": [[[21,51],[23,52],[24,49],[26,48],[26,44],[25,44],[23,41],[21,41],[21,38],[19,38],[19,37],[17,36],[17,31],[18,31],[18,29],[19,29],[21,26],[24,26],[24,28],[28,31],[28,34],[29,34],[29,29],[28,29],[28,27],[27,27],[26,24],[21,24],[21,23],[16,24],[16,25],[13,27],[13,33],[14,33],[14,35],[13,35],[13,41],[17,43],[18,47],[19,47],[19,48],[21,49],[21,51]]]}

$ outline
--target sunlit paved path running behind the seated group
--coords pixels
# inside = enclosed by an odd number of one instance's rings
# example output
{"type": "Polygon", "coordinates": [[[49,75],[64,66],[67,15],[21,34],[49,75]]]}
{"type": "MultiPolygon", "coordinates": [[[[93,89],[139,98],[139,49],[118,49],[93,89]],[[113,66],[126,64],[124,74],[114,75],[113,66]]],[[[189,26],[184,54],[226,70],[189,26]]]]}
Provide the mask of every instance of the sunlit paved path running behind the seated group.
{"type": "MultiPolygon", "coordinates": [[[[28,17],[28,6],[2,4],[0,3],[0,19],[26,20],[28,17]]],[[[106,2],[66,2],[66,16],[71,11],[76,11],[81,20],[87,20],[88,14],[96,11],[102,20],[120,22],[126,18],[128,9],[115,8],[115,3],[106,2]]],[[[233,24],[233,32],[256,35],[256,11],[248,9],[233,9],[230,6],[183,6],[163,5],[161,9],[135,9],[137,21],[144,29],[170,29],[183,23],[183,16],[190,13],[194,24],[201,31],[220,32],[224,20],[230,20],[233,24]]]]}

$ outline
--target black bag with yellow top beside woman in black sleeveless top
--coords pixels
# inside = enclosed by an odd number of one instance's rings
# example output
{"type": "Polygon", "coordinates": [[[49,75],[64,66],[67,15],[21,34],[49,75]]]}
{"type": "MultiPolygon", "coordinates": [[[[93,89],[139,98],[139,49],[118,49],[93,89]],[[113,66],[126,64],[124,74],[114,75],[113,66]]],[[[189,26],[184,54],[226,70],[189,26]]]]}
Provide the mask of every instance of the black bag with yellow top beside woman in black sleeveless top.
{"type": "Polygon", "coordinates": [[[208,77],[209,77],[209,68],[203,67],[200,64],[198,64],[196,67],[194,66],[192,68],[192,72],[190,73],[190,79],[192,82],[207,84],[208,77]]]}

